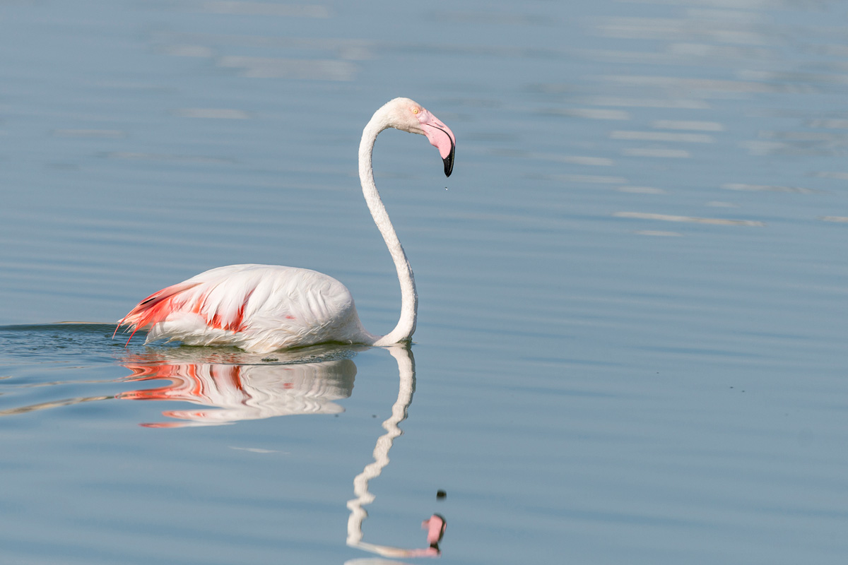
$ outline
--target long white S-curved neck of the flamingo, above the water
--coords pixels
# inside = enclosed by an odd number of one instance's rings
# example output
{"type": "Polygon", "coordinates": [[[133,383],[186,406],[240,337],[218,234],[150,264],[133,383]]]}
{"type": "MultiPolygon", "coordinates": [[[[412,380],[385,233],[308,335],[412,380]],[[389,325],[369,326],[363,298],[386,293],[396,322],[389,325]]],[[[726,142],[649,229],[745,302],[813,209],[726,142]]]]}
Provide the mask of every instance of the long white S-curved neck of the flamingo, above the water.
{"type": "MultiPolygon", "coordinates": [[[[382,109],[382,108],[381,108],[382,109]]],[[[400,282],[400,319],[394,330],[382,337],[375,336],[373,345],[388,346],[399,341],[407,341],[416,330],[416,315],[418,313],[418,293],[416,292],[416,280],[412,274],[410,262],[406,258],[404,247],[400,245],[398,235],[394,232],[392,220],[388,219],[386,207],[383,206],[377,185],[374,184],[374,169],[371,166],[371,152],[374,150],[374,141],[377,135],[388,127],[382,118],[382,112],[371,118],[365,130],[362,131],[360,142],[360,182],[362,183],[362,195],[365,203],[371,211],[371,218],[377,224],[383,241],[386,241],[388,252],[392,255],[394,268],[398,271],[400,282]]]]}

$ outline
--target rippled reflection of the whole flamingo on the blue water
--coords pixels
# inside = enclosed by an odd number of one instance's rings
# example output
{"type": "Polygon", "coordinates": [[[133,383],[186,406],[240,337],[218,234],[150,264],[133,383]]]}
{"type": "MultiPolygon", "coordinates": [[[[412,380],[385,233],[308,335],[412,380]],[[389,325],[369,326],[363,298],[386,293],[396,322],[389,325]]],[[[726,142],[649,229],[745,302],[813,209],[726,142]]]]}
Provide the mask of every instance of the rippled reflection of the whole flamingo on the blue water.
{"type": "MultiPolygon", "coordinates": [[[[386,433],[377,438],[377,445],[372,452],[373,463],[366,465],[362,473],[354,478],[355,498],[348,501],[350,515],[347,543],[380,557],[438,557],[441,555],[438,543],[442,540],[446,526],[444,518],[438,514],[433,514],[421,524],[422,528],[427,529],[427,547],[406,549],[363,540],[362,524],[368,516],[364,507],[375,499],[368,490],[369,481],[377,478],[388,465],[388,451],[394,440],[403,434],[399,424],[407,417],[416,388],[415,358],[409,346],[391,346],[387,349],[398,363],[398,398],[393,403],[391,416],[382,423],[386,433]]],[[[279,363],[279,357],[259,359],[243,355],[215,359],[217,363],[167,357],[154,358],[151,363],[151,357],[129,358],[122,363],[132,371],[127,380],[142,382],[161,379],[169,381],[169,384],[127,391],[116,397],[126,400],[182,401],[200,406],[163,413],[177,421],[142,424],[157,428],[232,424],[246,419],[343,412],[343,407],[333,401],[351,395],[356,374],[353,361],[349,358],[332,358],[338,357],[338,352],[319,356],[319,360],[314,363],[298,363],[302,359],[290,357],[292,353],[279,355],[289,357],[282,359],[282,363],[279,363]]],[[[354,559],[348,565],[365,562],[382,565],[390,563],[371,558],[354,559]]],[[[391,563],[397,565],[398,562],[391,563]]]]}

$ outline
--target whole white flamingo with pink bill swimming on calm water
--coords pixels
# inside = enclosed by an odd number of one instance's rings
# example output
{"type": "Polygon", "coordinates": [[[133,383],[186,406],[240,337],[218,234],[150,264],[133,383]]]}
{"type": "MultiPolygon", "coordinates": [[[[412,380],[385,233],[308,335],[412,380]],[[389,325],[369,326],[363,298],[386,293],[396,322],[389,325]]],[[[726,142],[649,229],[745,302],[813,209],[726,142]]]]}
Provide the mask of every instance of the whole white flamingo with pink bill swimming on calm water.
{"type": "Polygon", "coordinates": [[[363,328],[354,298],[338,280],[310,269],[243,264],[218,267],[154,292],[118,322],[131,330],[148,328],[146,343],[167,339],[191,346],[235,346],[248,352],[340,342],[389,346],[410,341],[416,330],[418,295],[412,268],[383,206],[371,153],[388,128],[427,136],[454,169],[454,132],[409,98],[394,98],[362,130],[359,169],[362,194],[398,271],[400,319],[386,335],[363,328]]]}

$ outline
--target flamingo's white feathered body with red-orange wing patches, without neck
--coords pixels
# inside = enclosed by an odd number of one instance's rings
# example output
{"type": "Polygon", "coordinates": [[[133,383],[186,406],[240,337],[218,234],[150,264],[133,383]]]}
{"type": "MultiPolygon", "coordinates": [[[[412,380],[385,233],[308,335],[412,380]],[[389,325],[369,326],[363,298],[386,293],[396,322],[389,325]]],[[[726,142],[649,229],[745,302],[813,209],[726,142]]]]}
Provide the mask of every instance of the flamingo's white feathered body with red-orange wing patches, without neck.
{"type": "Polygon", "coordinates": [[[149,326],[148,341],[250,352],[376,337],[362,327],[353,296],[338,280],[279,265],[210,269],[148,296],[120,324],[149,326]]]}

